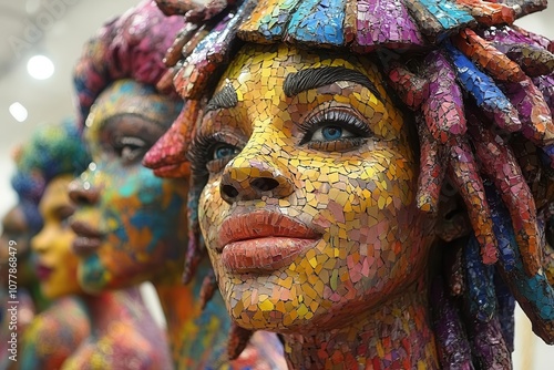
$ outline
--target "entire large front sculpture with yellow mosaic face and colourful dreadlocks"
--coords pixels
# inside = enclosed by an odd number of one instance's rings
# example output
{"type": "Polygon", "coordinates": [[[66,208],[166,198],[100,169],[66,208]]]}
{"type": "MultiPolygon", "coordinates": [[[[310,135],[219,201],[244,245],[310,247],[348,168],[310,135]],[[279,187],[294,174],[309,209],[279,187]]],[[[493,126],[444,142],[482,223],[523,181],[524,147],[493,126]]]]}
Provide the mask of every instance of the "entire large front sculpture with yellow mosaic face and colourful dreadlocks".
{"type": "Polygon", "coordinates": [[[514,298],[554,342],[553,44],[513,25],[545,1],[157,2],[187,114],[144,162],[192,161],[232,354],[269,329],[294,369],[505,369],[514,298]]]}

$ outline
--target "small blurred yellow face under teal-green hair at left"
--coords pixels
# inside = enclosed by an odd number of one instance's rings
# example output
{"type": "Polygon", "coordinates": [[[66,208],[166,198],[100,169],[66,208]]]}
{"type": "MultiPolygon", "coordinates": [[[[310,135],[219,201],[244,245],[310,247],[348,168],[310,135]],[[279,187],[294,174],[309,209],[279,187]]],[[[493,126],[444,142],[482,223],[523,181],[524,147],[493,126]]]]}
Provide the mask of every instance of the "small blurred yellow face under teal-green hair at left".
{"type": "Polygon", "coordinates": [[[31,240],[38,254],[37,276],[42,294],[50,299],[81,294],[76,281],[78,258],[71,249],[75,234],[69,226],[74,206],[68,195],[71,175],[52,179],[40,202],[44,226],[31,240]]]}

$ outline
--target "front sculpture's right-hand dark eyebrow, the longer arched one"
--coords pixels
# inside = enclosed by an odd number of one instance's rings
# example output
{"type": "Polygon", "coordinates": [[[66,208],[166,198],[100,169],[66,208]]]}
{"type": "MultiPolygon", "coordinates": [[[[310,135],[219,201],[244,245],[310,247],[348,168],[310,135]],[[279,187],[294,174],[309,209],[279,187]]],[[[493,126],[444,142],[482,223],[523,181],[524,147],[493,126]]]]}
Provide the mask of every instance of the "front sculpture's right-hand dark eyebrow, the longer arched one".
{"type": "Polygon", "coordinates": [[[350,81],[366,86],[381,102],[383,99],[376,85],[361,72],[349,70],[343,66],[324,66],[306,69],[296,73],[289,73],[285,78],[284,91],[287,96],[297,95],[301,91],[317,89],[339,81],[350,81]]]}

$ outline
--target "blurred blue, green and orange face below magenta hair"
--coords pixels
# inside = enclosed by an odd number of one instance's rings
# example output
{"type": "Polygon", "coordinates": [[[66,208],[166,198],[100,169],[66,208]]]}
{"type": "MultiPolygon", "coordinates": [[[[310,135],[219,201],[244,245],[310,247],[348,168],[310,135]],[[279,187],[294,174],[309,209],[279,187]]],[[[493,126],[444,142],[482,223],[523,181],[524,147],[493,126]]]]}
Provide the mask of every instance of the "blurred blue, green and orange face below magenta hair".
{"type": "Polygon", "coordinates": [[[133,285],[179,264],[186,183],[157,178],[141,165],[179,109],[152,88],[123,80],[91,110],[84,137],[93,162],[71,188],[82,205],[72,228],[85,290],[133,285]]]}

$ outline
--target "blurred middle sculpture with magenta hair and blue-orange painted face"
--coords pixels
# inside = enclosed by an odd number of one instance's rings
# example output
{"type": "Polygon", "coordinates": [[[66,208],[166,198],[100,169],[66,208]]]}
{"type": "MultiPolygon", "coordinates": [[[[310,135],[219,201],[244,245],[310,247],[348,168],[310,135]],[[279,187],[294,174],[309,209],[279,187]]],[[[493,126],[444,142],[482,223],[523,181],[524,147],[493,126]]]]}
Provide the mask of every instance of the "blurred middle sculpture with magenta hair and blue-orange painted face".
{"type": "Polygon", "coordinates": [[[179,17],[166,18],[153,1],[143,1],[106,24],[75,68],[92,155],[70,192],[79,204],[72,222],[79,280],[90,292],[152,281],[177,369],[276,369],[284,364],[281,345],[269,333],[229,363],[223,299],[205,305],[199,295],[204,280],[211,281],[209,261],[188,285],[181,280],[187,182],[157,178],[141,165],[182,109],[173,89],[155,89],[166,72],[162,56],[181,25],[179,17]]]}

